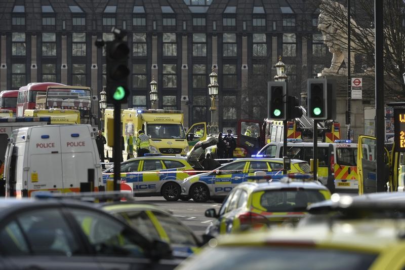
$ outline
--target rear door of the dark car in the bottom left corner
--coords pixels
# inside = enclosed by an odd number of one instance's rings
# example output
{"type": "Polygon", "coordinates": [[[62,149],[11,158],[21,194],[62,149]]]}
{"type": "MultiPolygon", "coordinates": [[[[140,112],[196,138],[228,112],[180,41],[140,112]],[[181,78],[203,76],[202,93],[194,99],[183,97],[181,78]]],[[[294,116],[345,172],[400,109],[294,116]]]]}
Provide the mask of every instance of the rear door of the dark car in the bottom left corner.
{"type": "Polygon", "coordinates": [[[42,207],[20,211],[0,228],[0,250],[11,268],[99,269],[62,211],[42,207]]]}

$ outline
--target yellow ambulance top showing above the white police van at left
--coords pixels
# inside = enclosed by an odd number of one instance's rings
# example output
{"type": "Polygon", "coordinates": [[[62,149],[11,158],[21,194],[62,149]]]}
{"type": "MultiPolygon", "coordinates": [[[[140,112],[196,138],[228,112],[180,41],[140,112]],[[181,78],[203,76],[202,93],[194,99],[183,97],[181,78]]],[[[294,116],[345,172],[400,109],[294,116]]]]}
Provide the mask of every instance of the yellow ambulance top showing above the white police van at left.
{"type": "Polygon", "coordinates": [[[80,111],[75,109],[26,109],[25,117],[50,117],[51,124],[80,124],[80,111]]]}

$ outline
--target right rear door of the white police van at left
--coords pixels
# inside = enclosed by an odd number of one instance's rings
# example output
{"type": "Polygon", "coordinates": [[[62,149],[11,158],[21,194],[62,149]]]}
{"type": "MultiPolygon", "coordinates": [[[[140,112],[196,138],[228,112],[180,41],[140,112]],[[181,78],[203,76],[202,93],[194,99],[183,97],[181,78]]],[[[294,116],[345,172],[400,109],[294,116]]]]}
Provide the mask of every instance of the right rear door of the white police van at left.
{"type": "Polygon", "coordinates": [[[80,182],[87,182],[88,169],[94,169],[94,186],[98,186],[100,162],[93,143],[90,125],[60,126],[63,192],[79,192],[80,182]]]}

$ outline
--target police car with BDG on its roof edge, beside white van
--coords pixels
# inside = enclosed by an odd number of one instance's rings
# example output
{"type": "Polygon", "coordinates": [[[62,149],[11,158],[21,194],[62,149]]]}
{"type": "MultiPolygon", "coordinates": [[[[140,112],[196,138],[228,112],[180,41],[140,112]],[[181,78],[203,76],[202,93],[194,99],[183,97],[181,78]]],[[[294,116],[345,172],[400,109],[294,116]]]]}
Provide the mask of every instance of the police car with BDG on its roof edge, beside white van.
{"type": "MultiPolygon", "coordinates": [[[[114,167],[103,172],[103,183],[114,179],[114,167]]],[[[121,163],[121,181],[133,183],[134,195],[163,196],[167,201],[180,198],[180,184],[195,171],[185,158],[150,156],[132,158],[121,163]]],[[[187,198],[188,200],[189,198],[187,198]]]]}

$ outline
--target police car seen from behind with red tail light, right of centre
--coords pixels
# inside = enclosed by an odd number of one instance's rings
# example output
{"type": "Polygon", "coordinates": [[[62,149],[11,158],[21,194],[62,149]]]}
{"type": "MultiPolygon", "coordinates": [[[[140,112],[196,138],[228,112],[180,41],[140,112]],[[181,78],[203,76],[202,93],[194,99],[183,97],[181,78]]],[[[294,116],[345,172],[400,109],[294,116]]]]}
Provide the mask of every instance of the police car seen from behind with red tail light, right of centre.
{"type": "Polygon", "coordinates": [[[280,180],[245,182],[229,192],[219,213],[207,209],[207,217],[217,218],[205,233],[210,239],[220,234],[278,224],[295,224],[307,212],[308,205],[331,198],[328,188],[312,175],[291,174],[280,180]]]}

